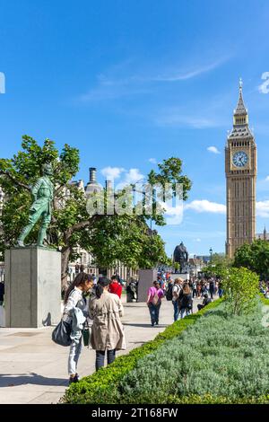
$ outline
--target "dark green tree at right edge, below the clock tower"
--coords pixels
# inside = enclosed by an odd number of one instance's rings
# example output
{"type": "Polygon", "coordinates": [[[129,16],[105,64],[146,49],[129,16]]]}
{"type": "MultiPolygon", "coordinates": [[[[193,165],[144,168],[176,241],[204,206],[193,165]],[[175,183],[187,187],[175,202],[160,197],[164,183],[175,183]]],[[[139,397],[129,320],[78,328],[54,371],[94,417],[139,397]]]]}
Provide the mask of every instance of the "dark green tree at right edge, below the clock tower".
{"type": "Polygon", "coordinates": [[[234,257],[235,267],[246,267],[255,271],[260,277],[269,277],[269,242],[256,240],[240,246],[234,257]]]}

